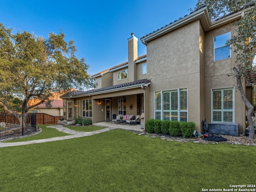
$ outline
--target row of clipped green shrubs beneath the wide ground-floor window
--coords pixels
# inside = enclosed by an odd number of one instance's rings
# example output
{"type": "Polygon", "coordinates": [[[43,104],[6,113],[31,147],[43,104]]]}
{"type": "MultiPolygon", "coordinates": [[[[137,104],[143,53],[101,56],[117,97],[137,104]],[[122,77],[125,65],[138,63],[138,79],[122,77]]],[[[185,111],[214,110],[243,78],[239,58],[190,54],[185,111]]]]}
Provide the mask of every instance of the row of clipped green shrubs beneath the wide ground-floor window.
{"type": "Polygon", "coordinates": [[[163,133],[171,136],[192,137],[196,124],[194,122],[179,122],[169,120],[148,119],[145,122],[148,133],[163,133]]]}

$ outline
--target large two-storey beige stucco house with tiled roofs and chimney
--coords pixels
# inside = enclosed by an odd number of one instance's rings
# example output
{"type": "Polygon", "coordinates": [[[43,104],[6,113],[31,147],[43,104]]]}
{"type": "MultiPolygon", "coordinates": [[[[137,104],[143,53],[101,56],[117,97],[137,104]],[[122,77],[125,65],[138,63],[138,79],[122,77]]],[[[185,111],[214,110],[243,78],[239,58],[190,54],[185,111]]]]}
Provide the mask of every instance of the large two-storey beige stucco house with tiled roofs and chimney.
{"type": "MultiPolygon", "coordinates": [[[[98,74],[97,87],[63,95],[64,118],[108,121],[112,114],[141,114],[144,119],[192,121],[201,132],[206,122],[237,122],[243,133],[246,107],[232,67],[236,55],[225,47],[236,34],[232,22],[244,11],[211,21],[206,6],[143,36],[147,54],[138,57],[138,38],[128,38],[128,62],[98,74]]],[[[251,93],[253,86],[247,86],[251,93]]],[[[245,82],[244,82],[245,88],[245,82]]]]}

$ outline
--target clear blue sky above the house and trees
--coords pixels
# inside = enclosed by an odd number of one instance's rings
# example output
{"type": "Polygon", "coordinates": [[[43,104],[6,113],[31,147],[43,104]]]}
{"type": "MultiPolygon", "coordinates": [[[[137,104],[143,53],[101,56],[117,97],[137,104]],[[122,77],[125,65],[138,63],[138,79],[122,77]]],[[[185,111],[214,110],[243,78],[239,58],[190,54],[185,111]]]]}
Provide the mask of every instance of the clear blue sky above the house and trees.
{"type": "MultiPolygon", "coordinates": [[[[0,5],[0,22],[15,30],[47,38],[50,32],[74,40],[76,57],[96,74],[128,60],[131,33],[138,56],[146,54],[140,38],[190,14],[197,0],[8,0],[0,5]]],[[[14,30],[14,32],[15,32],[14,30]]]]}

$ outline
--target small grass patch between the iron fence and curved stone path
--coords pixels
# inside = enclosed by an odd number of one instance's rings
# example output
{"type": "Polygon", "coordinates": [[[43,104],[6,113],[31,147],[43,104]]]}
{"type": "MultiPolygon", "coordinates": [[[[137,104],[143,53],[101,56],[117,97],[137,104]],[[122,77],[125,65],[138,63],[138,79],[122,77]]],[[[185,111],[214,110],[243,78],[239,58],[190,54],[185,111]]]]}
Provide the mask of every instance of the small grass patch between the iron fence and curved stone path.
{"type": "Polygon", "coordinates": [[[61,136],[66,136],[70,135],[64,132],[60,132],[54,128],[48,128],[46,126],[50,125],[39,125],[39,127],[42,129],[42,132],[32,135],[32,136],[27,136],[24,138],[19,138],[19,139],[13,139],[5,142],[22,142],[22,141],[32,141],[32,140],[38,140],[38,139],[47,139],[47,138],[53,138],[53,137],[61,137],[61,136]]]}

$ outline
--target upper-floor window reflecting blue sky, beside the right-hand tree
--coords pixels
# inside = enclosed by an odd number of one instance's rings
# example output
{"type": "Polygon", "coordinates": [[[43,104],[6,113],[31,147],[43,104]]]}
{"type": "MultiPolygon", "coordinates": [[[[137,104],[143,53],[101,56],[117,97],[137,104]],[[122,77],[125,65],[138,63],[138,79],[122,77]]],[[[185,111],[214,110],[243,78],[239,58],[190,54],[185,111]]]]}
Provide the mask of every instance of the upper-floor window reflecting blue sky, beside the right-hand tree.
{"type": "Polygon", "coordinates": [[[230,58],[231,50],[226,46],[226,42],[230,38],[230,32],[214,37],[214,61],[230,58]]]}

